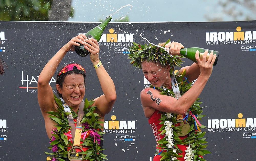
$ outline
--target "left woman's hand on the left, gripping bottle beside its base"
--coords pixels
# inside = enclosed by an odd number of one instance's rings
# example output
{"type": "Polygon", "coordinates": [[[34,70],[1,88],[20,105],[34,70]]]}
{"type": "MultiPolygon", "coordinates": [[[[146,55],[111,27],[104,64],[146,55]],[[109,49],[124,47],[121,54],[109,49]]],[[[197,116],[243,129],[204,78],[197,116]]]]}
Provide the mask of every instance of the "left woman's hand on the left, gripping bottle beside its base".
{"type": "Polygon", "coordinates": [[[73,37],[68,43],[64,45],[64,49],[66,51],[74,51],[74,47],[80,46],[80,44],[83,45],[86,39],[87,37],[84,34],[80,34],[76,37],[73,37]]]}

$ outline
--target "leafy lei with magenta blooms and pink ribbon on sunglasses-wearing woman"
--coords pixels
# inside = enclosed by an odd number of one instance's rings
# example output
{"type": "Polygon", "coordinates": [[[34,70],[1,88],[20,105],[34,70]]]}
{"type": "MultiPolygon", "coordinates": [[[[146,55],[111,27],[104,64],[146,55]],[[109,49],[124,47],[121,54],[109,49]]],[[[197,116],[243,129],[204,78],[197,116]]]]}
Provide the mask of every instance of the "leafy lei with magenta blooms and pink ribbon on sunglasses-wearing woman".
{"type": "MultiPolygon", "coordinates": [[[[67,143],[66,137],[64,139],[61,139],[60,136],[66,135],[65,133],[68,131],[69,123],[68,123],[68,120],[66,119],[66,117],[63,118],[61,116],[61,113],[63,113],[63,106],[62,106],[61,100],[58,99],[55,95],[54,95],[54,99],[58,103],[58,105],[60,105],[59,107],[57,107],[57,113],[56,113],[56,111],[49,111],[47,113],[50,114],[49,117],[51,118],[51,120],[56,122],[56,125],[55,125],[56,128],[52,130],[53,131],[52,136],[58,135],[58,137],[56,137],[56,138],[51,137],[51,146],[49,148],[51,149],[51,151],[55,151],[55,152],[52,152],[52,153],[45,152],[45,153],[51,155],[49,157],[51,160],[58,161],[58,160],[65,160],[67,158],[66,152],[70,145],[66,144],[67,143]],[[59,124],[59,121],[63,122],[63,124],[59,124]],[[57,131],[57,129],[59,129],[59,130],[57,131]],[[56,143],[57,143],[57,145],[56,145],[56,143]],[[63,148],[60,148],[60,147],[63,147],[64,150],[63,150],[63,148]]],[[[94,114],[96,106],[89,108],[89,106],[92,105],[94,101],[92,101],[92,100],[88,101],[87,99],[84,101],[85,101],[85,107],[84,107],[83,111],[85,113],[87,113],[87,115],[84,116],[84,118],[85,118],[85,119],[83,119],[84,121],[81,121],[81,123],[83,123],[82,133],[81,133],[81,136],[83,138],[81,141],[92,143],[92,144],[89,144],[89,146],[88,146],[88,148],[91,149],[92,151],[91,151],[91,155],[89,156],[89,158],[83,158],[83,159],[87,159],[87,160],[106,159],[106,155],[99,152],[101,150],[101,147],[98,144],[98,141],[101,140],[101,138],[98,137],[98,136],[101,136],[101,132],[98,131],[100,128],[102,128],[100,123],[98,123],[98,122],[100,122],[99,119],[101,119],[101,117],[99,117],[97,114],[94,114]],[[87,120],[88,120],[88,122],[87,122],[87,120]],[[89,122],[91,124],[88,124],[89,122]],[[92,130],[92,129],[97,129],[97,130],[92,130]],[[97,133],[96,133],[96,131],[97,131],[97,133]],[[90,135],[91,133],[93,133],[93,135],[92,135],[93,137],[90,135]],[[95,142],[95,140],[97,142],[95,142]],[[98,158],[102,158],[102,159],[98,159],[98,158]]],[[[73,118],[74,118],[74,116],[77,115],[74,111],[71,111],[71,113],[73,115],[73,118]]],[[[65,116],[66,116],[66,114],[65,114],[65,116]]]]}

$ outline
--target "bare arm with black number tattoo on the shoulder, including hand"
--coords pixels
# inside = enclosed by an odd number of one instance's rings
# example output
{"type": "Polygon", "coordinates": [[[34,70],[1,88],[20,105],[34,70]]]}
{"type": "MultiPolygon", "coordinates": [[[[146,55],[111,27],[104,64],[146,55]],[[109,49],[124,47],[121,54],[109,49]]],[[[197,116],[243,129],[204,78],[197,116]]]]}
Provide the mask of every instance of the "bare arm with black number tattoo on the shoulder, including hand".
{"type": "Polygon", "coordinates": [[[186,111],[201,94],[212,73],[212,66],[216,56],[211,52],[209,60],[206,62],[207,53],[208,51],[206,50],[203,56],[203,60],[201,61],[198,56],[199,52],[197,51],[196,60],[198,62],[198,66],[200,67],[200,75],[198,76],[194,85],[179,99],[161,95],[159,91],[152,88],[145,88],[141,91],[141,103],[144,112],[147,111],[145,112],[145,116],[147,118],[152,115],[152,111],[154,109],[162,112],[177,114],[186,113],[186,111]]]}

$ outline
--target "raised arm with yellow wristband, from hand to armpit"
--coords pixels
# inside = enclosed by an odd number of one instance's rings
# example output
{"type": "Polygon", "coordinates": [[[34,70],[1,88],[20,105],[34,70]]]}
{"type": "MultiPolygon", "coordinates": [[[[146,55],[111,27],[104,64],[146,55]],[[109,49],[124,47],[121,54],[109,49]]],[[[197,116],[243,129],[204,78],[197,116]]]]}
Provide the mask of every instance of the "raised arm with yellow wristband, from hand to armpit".
{"type": "Polygon", "coordinates": [[[112,109],[116,100],[116,91],[113,80],[106,72],[104,66],[99,59],[99,44],[95,39],[87,39],[85,49],[90,52],[90,59],[93,66],[97,65],[95,71],[100,81],[100,85],[103,91],[103,95],[95,99],[95,105],[97,106],[97,113],[104,117],[112,109]]]}

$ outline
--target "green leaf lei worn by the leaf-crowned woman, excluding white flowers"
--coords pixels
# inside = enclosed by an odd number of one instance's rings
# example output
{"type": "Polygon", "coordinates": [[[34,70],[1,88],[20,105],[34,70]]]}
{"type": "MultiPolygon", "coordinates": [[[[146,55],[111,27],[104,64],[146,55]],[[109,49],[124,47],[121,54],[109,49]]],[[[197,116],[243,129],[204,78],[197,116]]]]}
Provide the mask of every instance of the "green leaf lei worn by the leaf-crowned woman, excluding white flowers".
{"type": "MultiPolygon", "coordinates": [[[[172,74],[173,69],[170,70],[170,74],[172,74]]],[[[176,74],[174,74],[179,89],[180,89],[180,94],[181,96],[186,93],[186,91],[188,91],[191,88],[192,82],[186,84],[185,82],[187,81],[186,79],[183,80],[184,76],[186,74],[186,71],[184,70],[184,72],[179,75],[178,72],[176,74]]],[[[150,86],[151,88],[154,88],[152,85],[150,86]]],[[[172,89],[166,89],[166,88],[161,88],[161,87],[155,87],[155,89],[159,90],[162,95],[167,95],[167,96],[171,96],[171,97],[175,97],[175,94],[173,92],[172,89]]],[[[205,117],[205,115],[202,115],[201,113],[202,108],[204,107],[200,107],[200,104],[202,102],[199,102],[200,98],[197,98],[197,100],[193,103],[193,105],[189,108],[189,110],[187,111],[189,113],[189,111],[192,112],[192,114],[194,114],[198,120],[201,120],[201,118],[205,117]]],[[[162,152],[160,155],[162,156],[161,161],[169,161],[170,158],[172,157],[182,157],[180,155],[178,155],[177,153],[182,153],[180,151],[180,149],[177,148],[177,145],[192,145],[192,149],[193,149],[193,153],[194,153],[194,161],[197,160],[201,160],[201,161],[205,161],[204,158],[202,158],[201,156],[204,156],[206,154],[210,154],[211,152],[207,151],[205,148],[207,147],[206,145],[206,138],[203,138],[206,132],[198,132],[196,131],[196,126],[195,126],[195,119],[189,115],[187,118],[187,122],[189,122],[190,125],[190,130],[188,132],[188,137],[186,137],[185,139],[181,140],[178,137],[178,133],[181,131],[180,127],[175,126],[175,124],[177,123],[176,120],[176,116],[177,114],[173,113],[173,117],[171,117],[171,120],[168,120],[167,116],[166,116],[166,112],[161,112],[161,118],[159,119],[161,121],[160,124],[162,124],[162,127],[159,129],[159,131],[162,131],[161,134],[164,135],[166,133],[165,131],[165,121],[171,121],[172,124],[172,129],[173,129],[173,139],[174,139],[174,144],[175,147],[174,149],[176,149],[176,153],[173,152],[172,150],[170,150],[166,144],[168,143],[168,141],[166,141],[166,136],[162,139],[159,140],[158,143],[160,144],[160,147],[164,150],[166,150],[166,152],[162,152]]],[[[199,128],[206,128],[206,126],[204,125],[200,125],[199,128]]],[[[174,161],[179,161],[178,159],[174,159],[174,161]]]]}

